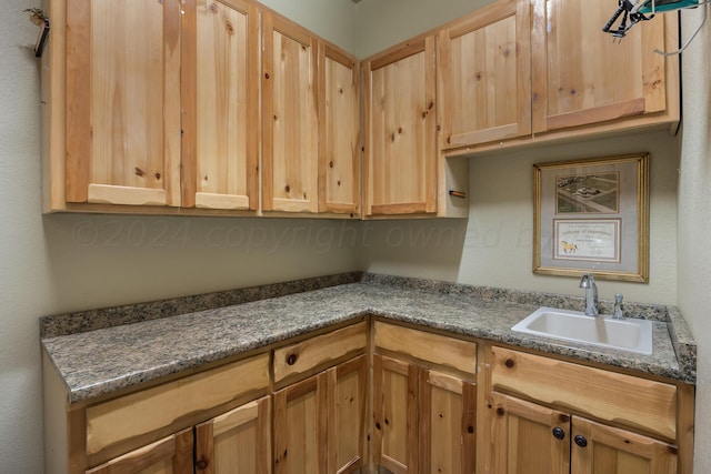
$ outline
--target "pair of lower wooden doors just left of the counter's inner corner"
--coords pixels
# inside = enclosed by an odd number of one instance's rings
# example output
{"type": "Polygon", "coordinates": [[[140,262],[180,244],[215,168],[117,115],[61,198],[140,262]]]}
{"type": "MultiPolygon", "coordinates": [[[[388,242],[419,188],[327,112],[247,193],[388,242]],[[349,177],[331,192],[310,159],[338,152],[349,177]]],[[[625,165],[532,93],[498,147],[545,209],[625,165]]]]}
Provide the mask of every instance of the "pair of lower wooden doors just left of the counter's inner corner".
{"type": "Polygon", "coordinates": [[[274,393],[276,474],[357,472],[364,464],[367,359],[274,393]]]}

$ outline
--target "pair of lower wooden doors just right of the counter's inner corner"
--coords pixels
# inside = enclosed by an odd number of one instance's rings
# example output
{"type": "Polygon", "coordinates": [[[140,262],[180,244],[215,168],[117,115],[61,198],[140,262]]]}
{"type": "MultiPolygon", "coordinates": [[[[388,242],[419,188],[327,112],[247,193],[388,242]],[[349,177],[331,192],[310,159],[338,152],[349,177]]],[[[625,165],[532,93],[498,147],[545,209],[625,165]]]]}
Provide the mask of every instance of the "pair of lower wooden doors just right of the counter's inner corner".
{"type": "Polygon", "coordinates": [[[394,474],[473,473],[472,382],[375,354],[374,458],[394,474]]]}

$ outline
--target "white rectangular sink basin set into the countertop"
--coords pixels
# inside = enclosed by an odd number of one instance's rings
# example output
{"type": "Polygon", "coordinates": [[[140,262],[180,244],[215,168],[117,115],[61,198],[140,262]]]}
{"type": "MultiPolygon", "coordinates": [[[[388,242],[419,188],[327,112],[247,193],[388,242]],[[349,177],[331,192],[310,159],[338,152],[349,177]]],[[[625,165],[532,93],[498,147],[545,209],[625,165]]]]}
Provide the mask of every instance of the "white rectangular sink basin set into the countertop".
{"type": "Polygon", "coordinates": [[[511,327],[525,334],[647,355],[652,354],[652,329],[651,321],[593,317],[553,307],[539,307],[511,327]]]}

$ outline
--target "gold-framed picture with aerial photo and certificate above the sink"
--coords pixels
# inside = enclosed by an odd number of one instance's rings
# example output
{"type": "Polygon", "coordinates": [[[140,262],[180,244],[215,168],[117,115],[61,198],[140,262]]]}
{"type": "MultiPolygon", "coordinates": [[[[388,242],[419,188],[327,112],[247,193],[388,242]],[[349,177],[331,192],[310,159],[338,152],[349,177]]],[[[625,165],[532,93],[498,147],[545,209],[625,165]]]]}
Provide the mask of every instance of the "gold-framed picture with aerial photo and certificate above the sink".
{"type": "Polygon", "coordinates": [[[533,273],[649,281],[649,154],[533,165],[533,273]]]}

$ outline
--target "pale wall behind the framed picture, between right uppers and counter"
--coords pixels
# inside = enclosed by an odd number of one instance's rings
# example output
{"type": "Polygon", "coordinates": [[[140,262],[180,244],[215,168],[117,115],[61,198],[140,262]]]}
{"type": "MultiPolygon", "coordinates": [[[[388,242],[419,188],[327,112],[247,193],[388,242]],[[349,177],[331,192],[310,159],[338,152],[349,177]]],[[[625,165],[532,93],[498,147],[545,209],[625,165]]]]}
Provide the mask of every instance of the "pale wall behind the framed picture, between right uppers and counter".
{"type": "Polygon", "coordinates": [[[533,163],[639,152],[650,153],[650,281],[599,281],[600,297],[611,300],[621,292],[627,301],[677,304],[679,139],[667,132],[472,158],[469,220],[371,224],[369,241],[378,244],[364,254],[365,268],[378,273],[580,295],[577,279],[534,275],[531,271],[533,163]]]}

